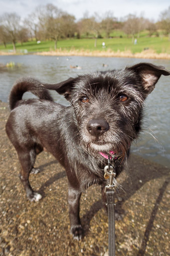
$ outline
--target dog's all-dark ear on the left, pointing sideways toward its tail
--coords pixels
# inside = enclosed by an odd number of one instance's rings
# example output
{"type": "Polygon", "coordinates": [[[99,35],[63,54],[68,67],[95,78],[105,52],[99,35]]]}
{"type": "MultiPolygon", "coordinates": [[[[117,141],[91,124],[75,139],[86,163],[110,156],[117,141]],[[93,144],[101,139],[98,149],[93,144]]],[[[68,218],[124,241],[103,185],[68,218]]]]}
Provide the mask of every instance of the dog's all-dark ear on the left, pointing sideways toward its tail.
{"type": "Polygon", "coordinates": [[[76,80],[76,78],[70,77],[67,80],[64,80],[59,83],[54,83],[54,84],[43,83],[41,85],[44,86],[46,89],[56,90],[59,94],[63,94],[64,97],[67,100],[69,100],[69,96],[70,96],[71,90],[74,86],[75,80],[76,80]]]}

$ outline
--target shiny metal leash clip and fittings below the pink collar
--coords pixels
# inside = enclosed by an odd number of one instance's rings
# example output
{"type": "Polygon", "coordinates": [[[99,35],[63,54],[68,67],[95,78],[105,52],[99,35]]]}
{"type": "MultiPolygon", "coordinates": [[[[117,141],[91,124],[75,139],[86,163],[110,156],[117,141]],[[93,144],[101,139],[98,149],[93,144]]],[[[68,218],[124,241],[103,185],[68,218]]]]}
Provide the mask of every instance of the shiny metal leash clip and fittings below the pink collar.
{"type": "Polygon", "coordinates": [[[105,193],[107,189],[115,190],[115,185],[113,184],[113,178],[116,176],[116,172],[114,171],[114,167],[110,164],[110,160],[108,159],[108,165],[104,167],[105,175],[104,177],[109,178],[109,184],[105,186],[105,193]]]}

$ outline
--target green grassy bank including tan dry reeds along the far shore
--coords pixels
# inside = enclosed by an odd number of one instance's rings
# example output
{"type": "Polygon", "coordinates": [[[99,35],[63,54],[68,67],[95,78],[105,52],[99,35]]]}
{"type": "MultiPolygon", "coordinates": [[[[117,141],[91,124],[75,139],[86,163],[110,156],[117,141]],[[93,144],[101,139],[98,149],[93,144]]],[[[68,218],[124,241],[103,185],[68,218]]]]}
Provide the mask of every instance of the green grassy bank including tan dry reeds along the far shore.
{"type": "MultiPolygon", "coordinates": [[[[170,58],[170,41],[168,37],[141,37],[137,44],[132,43],[132,38],[98,38],[97,47],[94,47],[95,39],[65,39],[57,42],[57,50],[54,52],[54,41],[16,43],[17,54],[47,52],[45,54],[63,55],[99,55],[99,56],[129,56],[141,57],[141,55],[153,56],[154,58],[170,58]],[[102,47],[105,42],[106,47],[102,47]],[[139,54],[140,53],[140,54],[139,54]],[[145,53],[145,54],[144,54],[145,53]],[[138,56],[139,55],[139,56],[138,56]]],[[[0,45],[1,54],[12,54],[12,44],[6,48],[0,45]]],[[[43,53],[44,54],[44,53],[43,53]]]]}

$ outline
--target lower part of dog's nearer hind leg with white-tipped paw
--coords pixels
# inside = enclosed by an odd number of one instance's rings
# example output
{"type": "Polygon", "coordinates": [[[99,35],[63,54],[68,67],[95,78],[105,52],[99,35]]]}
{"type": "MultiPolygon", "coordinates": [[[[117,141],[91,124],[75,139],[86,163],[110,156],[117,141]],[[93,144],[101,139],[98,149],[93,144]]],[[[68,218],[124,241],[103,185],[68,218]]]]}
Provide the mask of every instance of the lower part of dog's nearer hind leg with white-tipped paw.
{"type": "Polygon", "coordinates": [[[31,150],[17,150],[18,158],[21,164],[20,179],[25,188],[26,196],[30,201],[38,201],[41,199],[41,194],[34,192],[29,183],[29,173],[35,162],[36,152],[31,150]]]}

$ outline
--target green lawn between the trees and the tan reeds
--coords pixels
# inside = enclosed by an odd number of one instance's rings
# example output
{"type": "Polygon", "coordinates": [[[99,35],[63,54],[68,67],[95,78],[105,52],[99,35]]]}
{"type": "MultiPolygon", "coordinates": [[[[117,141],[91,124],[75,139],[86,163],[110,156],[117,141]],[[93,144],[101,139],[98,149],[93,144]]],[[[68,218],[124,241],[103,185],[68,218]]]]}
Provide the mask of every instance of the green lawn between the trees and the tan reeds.
{"type": "MultiPolygon", "coordinates": [[[[118,33],[120,34],[121,31],[118,33]]],[[[141,52],[144,48],[149,47],[150,49],[155,50],[157,53],[165,52],[170,54],[170,41],[168,37],[140,37],[138,38],[137,45],[132,43],[132,38],[127,37],[113,37],[113,38],[98,38],[97,39],[97,47],[94,47],[93,38],[84,38],[84,39],[64,39],[59,40],[57,42],[57,48],[61,48],[63,50],[70,49],[89,49],[89,50],[107,50],[111,49],[113,51],[125,51],[131,50],[132,53],[141,52]],[[102,42],[105,42],[106,48],[102,48],[102,42]]],[[[27,49],[28,53],[37,52],[37,51],[49,51],[54,50],[54,41],[41,41],[41,43],[37,44],[36,41],[28,41],[24,42],[22,45],[20,43],[16,43],[16,50],[24,50],[27,49]]],[[[1,51],[9,51],[12,50],[12,44],[8,43],[6,48],[0,44],[1,51]]]]}

